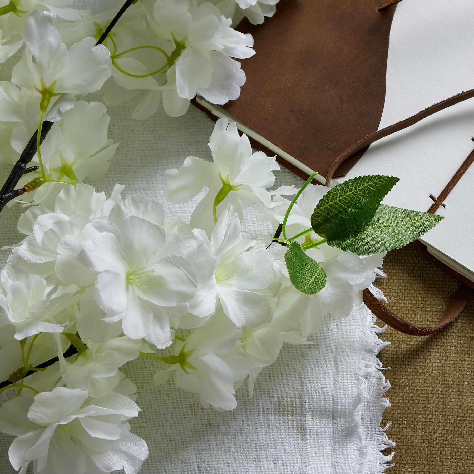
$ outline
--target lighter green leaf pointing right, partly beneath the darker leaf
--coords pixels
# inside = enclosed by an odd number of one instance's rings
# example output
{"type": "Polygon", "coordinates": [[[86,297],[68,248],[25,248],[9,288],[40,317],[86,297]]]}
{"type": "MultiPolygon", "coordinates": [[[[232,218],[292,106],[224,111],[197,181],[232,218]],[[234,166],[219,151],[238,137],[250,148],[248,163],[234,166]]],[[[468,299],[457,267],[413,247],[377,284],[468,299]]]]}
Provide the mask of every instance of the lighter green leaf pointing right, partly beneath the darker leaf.
{"type": "Polygon", "coordinates": [[[329,240],[328,245],[357,255],[388,252],[413,242],[443,216],[381,204],[373,219],[351,237],[329,240]]]}

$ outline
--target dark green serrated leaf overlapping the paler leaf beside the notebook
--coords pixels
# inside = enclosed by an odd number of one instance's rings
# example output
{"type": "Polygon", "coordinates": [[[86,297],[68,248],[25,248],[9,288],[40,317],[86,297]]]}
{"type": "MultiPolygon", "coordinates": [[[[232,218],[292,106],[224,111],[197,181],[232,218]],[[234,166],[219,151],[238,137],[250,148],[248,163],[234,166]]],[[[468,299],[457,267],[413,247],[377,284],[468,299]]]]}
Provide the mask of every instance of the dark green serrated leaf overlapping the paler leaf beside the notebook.
{"type": "Polygon", "coordinates": [[[343,240],[365,226],[398,178],[358,176],[337,184],[318,202],[311,227],[321,237],[343,240]]]}

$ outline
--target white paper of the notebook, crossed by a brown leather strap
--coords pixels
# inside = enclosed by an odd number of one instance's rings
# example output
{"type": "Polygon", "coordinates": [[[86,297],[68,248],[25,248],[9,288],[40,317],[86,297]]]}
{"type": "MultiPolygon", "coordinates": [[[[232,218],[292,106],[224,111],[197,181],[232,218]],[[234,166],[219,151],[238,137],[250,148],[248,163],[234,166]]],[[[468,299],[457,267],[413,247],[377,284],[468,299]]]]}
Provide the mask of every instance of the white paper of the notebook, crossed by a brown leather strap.
{"type": "MultiPolygon", "coordinates": [[[[474,2],[404,0],[390,32],[386,98],[379,128],[474,87],[474,2]]],[[[474,100],[438,112],[374,143],[346,178],[398,176],[385,204],[427,211],[474,148],[474,100]]],[[[423,242],[474,271],[474,169],[440,207],[445,216],[423,242]]]]}

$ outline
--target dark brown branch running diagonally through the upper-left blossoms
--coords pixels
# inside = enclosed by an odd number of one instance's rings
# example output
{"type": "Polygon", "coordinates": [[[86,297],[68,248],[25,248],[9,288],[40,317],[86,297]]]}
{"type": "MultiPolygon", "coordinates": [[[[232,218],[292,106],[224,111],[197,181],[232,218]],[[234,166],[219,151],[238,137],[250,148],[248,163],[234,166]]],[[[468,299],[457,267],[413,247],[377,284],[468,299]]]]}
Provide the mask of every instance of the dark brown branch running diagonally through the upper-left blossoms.
{"type": "MultiPolygon", "coordinates": [[[[99,40],[97,41],[96,45],[100,45],[104,42],[105,38],[107,35],[110,33],[111,29],[115,26],[115,24],[118,22],[119,18],[125,13],[125,11],[128,9],[130,5],[135,3],[136,0],[127,0],[122,8],[118,11],[117,15],[112,19],[112,21],[109,23],[107,28],[105,29],[104,33],[102,36],[100,36],[99,40]]],[[[43,142],[45,139],[46,135],[48,134],[49,130],[53,126],[53,122],[48,122],[45,120],[43,122],[43,128],[41,130],[41,138],[40,142],[43,142]]],[[[0,212],[3,210],[3,208],[6,206],[6,204],[11,201],[12,199],[15,199],[16,197],[20,196],[24,192],[26,192],[23,189],[15,189],[15,187],[18,184],[18,181],[20,178],[25,174],[27,170],[27,164],[33,159],[33,156],[36,154],[36,137],[38,134],[38,130],[33,134],[33,137],[30,138],[30,141],[28,142],[28,145],[26,148],[23,150],[23,153],[21,154],[19,160],[17,163],[13,166],[9,177],[3,184],[1,190],[0,190],[0,212]]],[[[33,170],[31,170],[33,171],[33,170]]]]}

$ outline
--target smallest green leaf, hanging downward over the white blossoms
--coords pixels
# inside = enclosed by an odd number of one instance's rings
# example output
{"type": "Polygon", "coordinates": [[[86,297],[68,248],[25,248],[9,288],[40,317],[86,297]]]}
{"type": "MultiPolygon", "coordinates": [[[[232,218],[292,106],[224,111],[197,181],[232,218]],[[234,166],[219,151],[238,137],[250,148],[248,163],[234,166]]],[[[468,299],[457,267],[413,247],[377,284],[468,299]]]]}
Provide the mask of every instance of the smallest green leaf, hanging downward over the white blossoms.
{"type": "Polygon", "coordinates": [[[302,293],[313,295],[326,284],[326,272],[318,262],[306,255],[298,242],[292,242],[285,254],[290,281],[302,293]]]}

